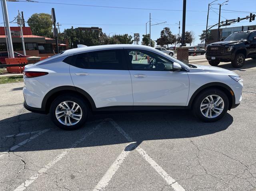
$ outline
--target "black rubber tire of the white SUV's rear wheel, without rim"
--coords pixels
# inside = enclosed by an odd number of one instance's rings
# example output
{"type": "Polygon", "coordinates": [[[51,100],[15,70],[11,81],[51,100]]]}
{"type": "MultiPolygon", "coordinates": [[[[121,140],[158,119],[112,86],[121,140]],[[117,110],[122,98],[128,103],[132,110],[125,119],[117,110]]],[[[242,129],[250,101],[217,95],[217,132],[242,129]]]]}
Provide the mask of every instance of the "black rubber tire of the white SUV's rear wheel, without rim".
{"type": "MultiPolygon", "coordinates": [[[[70,105],[71,108],[72,105],[70,105]]],[[[75,109],[74,109],[75,110],[75,109]]],[[[70,111],[71,112],[71,111],[70,111]]],[[[76,130],[80,127],[82,127],[82,125],[86,122],[87,118],[88,118],[88,112],[89,112],[89,108],[88,105],[86,104],[85,100],[77,95],[69,95],[69,94],[65,94],[65,95],[61,95],[58,96],[51,104],[50,107],[50,117],[52,119],[52,122],[54,122],[54,124],[56,126],[58,126],[59,128],[62,128],[64,130],[76,130]],[[80,121],[77,122],[74,125],[68,126],[65,124],[62,124],[55,115],[55,111],[58,107],[59,104],[61,104],[62,102],[67,101],[68,104],[72,104],[72,102],[75,102],[76,104],[78,104],[80,106],[79,111],[82,111],[82,117],[80,118],[80,121]],[[69,102],[70,101],[70,102],[69,102]]],[[[73,113],[73,112],[72,112],[73,113]]],[[[70,113],[70,120],[72,122],[72,120],[74,120],[73,118],[71,118],[72,113],[70,113]]],[[[76,114],[75,112],[73,114],[76,114]]],[[[65,118],[65,115],[61,118],[65,118]]],[[[74,117],[74,116],[73,116],[74,117]]],[[[74,122],[76,122],[76,120],[74,120],[74,122]]]]}

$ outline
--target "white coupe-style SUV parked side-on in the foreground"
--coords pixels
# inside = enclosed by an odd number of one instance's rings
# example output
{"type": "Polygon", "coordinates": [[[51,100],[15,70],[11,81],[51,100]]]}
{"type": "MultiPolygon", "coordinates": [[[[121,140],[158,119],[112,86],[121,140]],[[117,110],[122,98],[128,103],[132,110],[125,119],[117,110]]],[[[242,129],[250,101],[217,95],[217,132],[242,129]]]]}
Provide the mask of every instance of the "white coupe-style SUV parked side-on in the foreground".
{"type": "Polygon", "coordinates": [[[192,108],[213,122],[242,100],[242,79],[212,66],[184,64],[142,45],[81,47],[26,65],[24,107],[60,128],[86,122],[88,112],[192,108]]]}

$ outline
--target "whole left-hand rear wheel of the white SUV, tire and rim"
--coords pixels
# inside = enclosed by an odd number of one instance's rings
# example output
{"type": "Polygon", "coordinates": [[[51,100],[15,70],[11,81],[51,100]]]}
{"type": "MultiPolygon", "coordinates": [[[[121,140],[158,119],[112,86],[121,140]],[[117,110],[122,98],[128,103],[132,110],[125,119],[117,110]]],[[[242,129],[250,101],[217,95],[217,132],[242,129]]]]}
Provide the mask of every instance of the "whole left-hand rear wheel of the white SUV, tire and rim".
{"type": "Polygon", "coordinates": [[[50,117],[64,130],[80,128],[87,120],[89,108],[83,98],[74,95],[58,96],[51,104],[50,117]]]}

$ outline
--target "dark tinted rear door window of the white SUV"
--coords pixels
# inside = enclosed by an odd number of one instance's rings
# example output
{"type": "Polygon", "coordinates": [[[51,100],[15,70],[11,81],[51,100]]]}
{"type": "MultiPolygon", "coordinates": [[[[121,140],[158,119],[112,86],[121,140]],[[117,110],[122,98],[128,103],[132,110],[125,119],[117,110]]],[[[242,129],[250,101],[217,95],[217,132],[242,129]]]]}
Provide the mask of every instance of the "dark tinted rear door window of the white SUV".
{"type": "Polygon", "coordinates": [[[74,65],[84,69],[124,70],[122,50],[103,50],[76,55],[74,65]]]}

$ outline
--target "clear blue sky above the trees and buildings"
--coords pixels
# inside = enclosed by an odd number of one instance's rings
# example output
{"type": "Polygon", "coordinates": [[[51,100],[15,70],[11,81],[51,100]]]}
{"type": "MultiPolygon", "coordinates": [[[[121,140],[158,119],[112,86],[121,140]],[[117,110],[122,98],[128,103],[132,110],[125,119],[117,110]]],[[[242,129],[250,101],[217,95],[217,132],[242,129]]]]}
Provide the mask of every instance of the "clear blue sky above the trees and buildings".
{"type": "MultiPolygon", "coordinates": [[[[24,1],[24,0],[22,0],[24,1]]],[[[51,8],[55,8],[56,20],[62,26],[60,30],[76,27],[100,27],[107,35],[116,33],[146,33],[146,22],[149,21],[149,13],[151,13],[152,24],[166,21],[166,24],[151,27],[151,38],[156,40],[160,36],[160,31],[164,27],[170,27],[172,33],[178,34],[178,26],[175,23],[180,21],[182,31],[182,0],[37,0],[38,2],[7,2],[9,20],[12,21],[18,10],[24,12],[25,20],[34,13],[51,13],[51,8]],[[148,8],[148,9],[165,9],[165,10],[134,10],[122,8],[102,8],[81,5],[60,5],[49,3],[66,3],[66,4],[82,4],[95,6],[115,6],[127,8],[148,8]],[[170,11],[171,10],[171,11],[170,11]],[[175,11],[174,11],[175,10],[175,11]]],[[[206,28],[206,16],[208,3],[213,0],[187,0],[186,6],[186,31],[195,33],[195,45],[200,43],[198,35],[206,28]]],[[[217,0],[214,3],[222,3],[225,0],[217,0]]],[[[212,8],[218,8],[218,5],[212,5],[212,8]]],[[[240,18],[249,15],[250,12],[256,12],[255,0],[229,0],[228,5],[222,6],[222,9],[236,10],[240,12],[222,11],[221,20],[240,18]],[[248,13],[246,13],[248,12],[248,13]]],[[[1,10],[2,11],[2,10],[1,10]]],[[[210,10],[209,24],[218,23],[218,9],[210,10]]],[[[2,13],[0,14],[0,25],[2,24],[2,13]]],[[[256,24],[244,20],[233,26],[246,26],[256,24]]],[[[17,24],[11,24],[17,26],[17,24]]],[[[149,28],[148,28],[149,31],[149,28]]]]}

